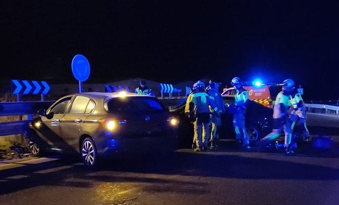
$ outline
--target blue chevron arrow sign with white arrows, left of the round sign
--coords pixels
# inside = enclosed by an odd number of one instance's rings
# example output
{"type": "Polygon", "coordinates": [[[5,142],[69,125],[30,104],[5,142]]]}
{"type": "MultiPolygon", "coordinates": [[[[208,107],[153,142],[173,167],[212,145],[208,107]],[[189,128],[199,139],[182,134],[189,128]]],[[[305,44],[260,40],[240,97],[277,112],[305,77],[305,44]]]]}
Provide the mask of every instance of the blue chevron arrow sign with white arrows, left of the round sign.
{"type": "Polygon", "coordinates": [[[46,81],[31,81],[31,80],[11,80],[13,94],[33,94],[46,95],[50,90],[46,81]]]}

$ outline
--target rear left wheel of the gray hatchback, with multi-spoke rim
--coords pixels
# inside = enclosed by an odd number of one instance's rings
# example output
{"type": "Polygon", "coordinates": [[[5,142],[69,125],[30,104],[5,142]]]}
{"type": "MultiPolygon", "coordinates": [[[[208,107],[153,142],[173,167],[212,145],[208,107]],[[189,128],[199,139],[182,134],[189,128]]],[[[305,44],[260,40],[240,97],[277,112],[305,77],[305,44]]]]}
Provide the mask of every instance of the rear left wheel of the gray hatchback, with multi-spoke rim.
{"type": "Polygon", "coordinates": [[[80,155],[87,168],[95,168],[98,164],[97,148],[91,138],[85,138],[81,143],[80,155]]]}

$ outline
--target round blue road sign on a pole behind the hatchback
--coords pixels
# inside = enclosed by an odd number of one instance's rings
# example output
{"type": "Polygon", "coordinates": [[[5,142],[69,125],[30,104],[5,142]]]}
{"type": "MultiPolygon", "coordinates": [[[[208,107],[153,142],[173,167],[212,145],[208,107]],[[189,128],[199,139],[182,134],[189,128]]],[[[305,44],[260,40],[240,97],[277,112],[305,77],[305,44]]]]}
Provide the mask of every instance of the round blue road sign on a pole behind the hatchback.
{"type": "Polygon", "coordinates": [[[79,81],[85,81],[90,73],[89,62],[87,58],[81,54],[74,56],[72,60],[72,72],[74,77],[79,81]]]}

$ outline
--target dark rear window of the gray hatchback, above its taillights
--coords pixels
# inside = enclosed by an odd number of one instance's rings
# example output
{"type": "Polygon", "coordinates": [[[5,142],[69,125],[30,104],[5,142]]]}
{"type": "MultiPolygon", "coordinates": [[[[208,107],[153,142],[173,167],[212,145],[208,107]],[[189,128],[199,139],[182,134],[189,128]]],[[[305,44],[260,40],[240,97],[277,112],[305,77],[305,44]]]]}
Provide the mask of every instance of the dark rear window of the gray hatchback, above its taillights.
{"type": "Polygon", "coordinates": [[[113,98],[107,103],[109,112],[157,112],[165,107],[157,98],[151,97],[126,97],[113,98]]]}

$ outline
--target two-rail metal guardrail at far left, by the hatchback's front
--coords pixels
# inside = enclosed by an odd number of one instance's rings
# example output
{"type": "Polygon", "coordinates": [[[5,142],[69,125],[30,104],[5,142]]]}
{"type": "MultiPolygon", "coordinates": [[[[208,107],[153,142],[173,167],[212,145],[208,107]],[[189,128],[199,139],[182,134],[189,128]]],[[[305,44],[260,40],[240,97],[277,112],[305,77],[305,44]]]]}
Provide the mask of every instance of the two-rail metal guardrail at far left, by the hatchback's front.
{"type": "MultiPolygon", "coordinates": [[[[0,103],[0,116],[21,116],[37,114],[39,109],[47,109],[54,101],[3,102],[0,103]]],[[[27,117],[29,118],[29,117],[27,117]]],[[[22,134],[28,129],[30,120],[0,123],[0,136],[22,134]]]]}

